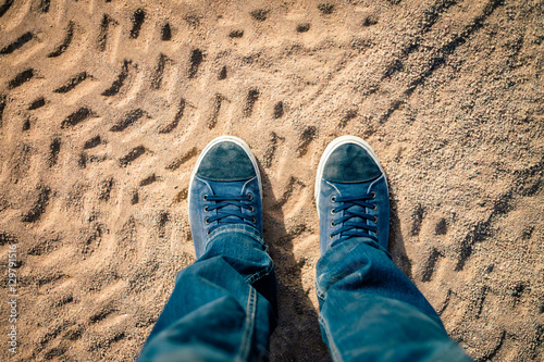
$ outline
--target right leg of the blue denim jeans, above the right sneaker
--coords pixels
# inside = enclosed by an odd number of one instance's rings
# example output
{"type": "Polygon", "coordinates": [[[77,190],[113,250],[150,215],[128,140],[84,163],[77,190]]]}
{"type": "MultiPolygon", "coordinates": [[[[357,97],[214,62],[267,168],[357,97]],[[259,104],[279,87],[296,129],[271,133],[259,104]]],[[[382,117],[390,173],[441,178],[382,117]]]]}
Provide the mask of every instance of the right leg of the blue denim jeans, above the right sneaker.
{"type": "Polygon", "coordinates": [[[348,239],[326,251],[316,286],[321,333],[334,361],[471,361],[370,239],[348,239]]]}

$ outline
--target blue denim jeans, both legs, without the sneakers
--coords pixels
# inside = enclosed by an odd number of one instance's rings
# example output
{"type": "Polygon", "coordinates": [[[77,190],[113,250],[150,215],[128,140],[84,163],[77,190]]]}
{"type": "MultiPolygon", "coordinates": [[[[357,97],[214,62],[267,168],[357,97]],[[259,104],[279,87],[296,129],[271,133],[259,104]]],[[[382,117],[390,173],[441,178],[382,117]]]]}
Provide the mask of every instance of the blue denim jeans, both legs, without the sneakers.
{"type": "MultiPolygon", "coordinates": [[[[325,252],[316,287],[334,361],[471,361],[374,241],[354,238],[325,252]]],[[[256,229],[220,226],[206,253],[178,273],[138,361],[267,360],[277,321],[275,288],[256,229]]]]}

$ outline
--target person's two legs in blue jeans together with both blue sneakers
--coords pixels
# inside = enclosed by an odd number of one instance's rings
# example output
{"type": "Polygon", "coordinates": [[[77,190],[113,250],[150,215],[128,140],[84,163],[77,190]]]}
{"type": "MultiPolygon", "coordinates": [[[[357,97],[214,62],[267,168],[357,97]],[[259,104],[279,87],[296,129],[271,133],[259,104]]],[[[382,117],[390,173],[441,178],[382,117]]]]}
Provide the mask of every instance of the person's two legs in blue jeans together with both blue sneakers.
{"type": "MultiPolygon", "coordinates": [[[[205,148],[188,197],[197,261],[178,273],[139,361],[267,360],[277,301],[261,195],[243,140],[205,148]]],[[[470,361],[387,253],[387,183],[370,146],[351,136],[329,145],[316,201],[319,323],[333,360],[470,361]]]]}

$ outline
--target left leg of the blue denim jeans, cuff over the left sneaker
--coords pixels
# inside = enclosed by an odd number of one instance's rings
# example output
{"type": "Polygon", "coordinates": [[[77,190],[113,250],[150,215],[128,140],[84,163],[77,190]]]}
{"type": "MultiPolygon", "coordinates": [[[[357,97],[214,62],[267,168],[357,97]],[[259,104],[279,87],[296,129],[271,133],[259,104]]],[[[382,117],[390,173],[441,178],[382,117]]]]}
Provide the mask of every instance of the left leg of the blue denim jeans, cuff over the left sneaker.
{"type": "Polygon", "coordinates": [[[225,225],[177,274],[138,361],[258,361],[276,324],[272,260],[257,230],[225,225]]]}

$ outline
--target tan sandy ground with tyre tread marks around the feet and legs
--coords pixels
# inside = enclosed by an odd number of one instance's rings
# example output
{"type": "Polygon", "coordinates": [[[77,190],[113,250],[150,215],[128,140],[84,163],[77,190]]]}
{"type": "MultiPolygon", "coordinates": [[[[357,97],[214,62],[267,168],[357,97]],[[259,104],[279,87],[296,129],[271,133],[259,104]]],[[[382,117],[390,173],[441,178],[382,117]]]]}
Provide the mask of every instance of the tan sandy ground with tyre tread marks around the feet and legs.
{"type": "Polygon", "coordinates": [[[388,176],[390,251],[452,337],[542,361],[543,130],[541,0],[1,0],[0,360],[134,359],[195,260],[197,155],[230,134],[263,176],[272,360],[327,361],[313,182],[353,134],[388,176]]]}

